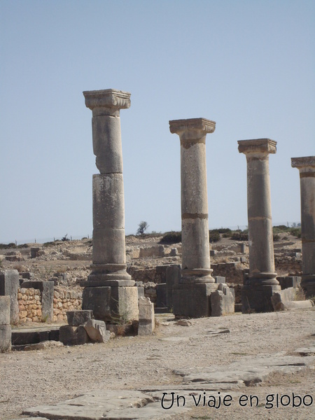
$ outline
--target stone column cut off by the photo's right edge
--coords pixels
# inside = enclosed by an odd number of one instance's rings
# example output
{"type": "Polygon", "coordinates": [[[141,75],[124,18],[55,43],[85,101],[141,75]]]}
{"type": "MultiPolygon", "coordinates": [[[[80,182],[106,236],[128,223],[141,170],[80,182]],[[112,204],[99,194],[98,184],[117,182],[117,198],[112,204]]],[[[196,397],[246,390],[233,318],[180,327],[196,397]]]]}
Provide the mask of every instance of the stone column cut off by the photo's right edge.
{"type": "Polygon", "coordinates": [[[300,171],[302,281],[307,297],[315,295],[315,156],[291,158],[300,171]]]}

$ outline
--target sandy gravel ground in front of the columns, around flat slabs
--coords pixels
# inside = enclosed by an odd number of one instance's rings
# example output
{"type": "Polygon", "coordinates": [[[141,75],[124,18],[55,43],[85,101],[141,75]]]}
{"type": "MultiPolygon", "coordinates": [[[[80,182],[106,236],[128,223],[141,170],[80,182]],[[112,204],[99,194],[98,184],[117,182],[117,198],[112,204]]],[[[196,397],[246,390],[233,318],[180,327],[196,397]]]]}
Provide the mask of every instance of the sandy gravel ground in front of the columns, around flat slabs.
{"type": "MultiPolygon", "coordinates": [[[[53,404],[95,389],[172,385],[176,391],[182,379],[174,369],[228,365],[260,353],[290,354],[314,345],[314,316],[314,309],[235,314],[193,319],[189,327],[160,317],[160,326],[149,337],[120,337],[106,344],[0,354],[0,419],[17,419],[28,407],[53,404]],[[229,328],[230,333],[209,336],[206,332],[211,328],[229,328]]],[[[258,407],[241,407],[233,400],[230,407],[197,407],[172,418],[314,419],[314,403],[311,407],[265,408],[265,398],[272,393],[311,394],[315,399],[314,369],[271,374],[260,386],[242,388],[240,393],[258,396],[258,407]]]]}

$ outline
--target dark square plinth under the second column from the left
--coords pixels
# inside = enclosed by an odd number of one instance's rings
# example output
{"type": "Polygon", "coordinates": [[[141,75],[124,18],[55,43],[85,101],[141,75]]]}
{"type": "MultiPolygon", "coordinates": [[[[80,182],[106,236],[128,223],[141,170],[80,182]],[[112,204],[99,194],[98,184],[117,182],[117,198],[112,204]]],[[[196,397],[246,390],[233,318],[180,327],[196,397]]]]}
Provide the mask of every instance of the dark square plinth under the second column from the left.
{"type": "Polygon", "coordinates": [[[210,295],[216,283],[179,283],[173,287],[173,313],[175,316],[202,318],[211,316],[210,295]]]}

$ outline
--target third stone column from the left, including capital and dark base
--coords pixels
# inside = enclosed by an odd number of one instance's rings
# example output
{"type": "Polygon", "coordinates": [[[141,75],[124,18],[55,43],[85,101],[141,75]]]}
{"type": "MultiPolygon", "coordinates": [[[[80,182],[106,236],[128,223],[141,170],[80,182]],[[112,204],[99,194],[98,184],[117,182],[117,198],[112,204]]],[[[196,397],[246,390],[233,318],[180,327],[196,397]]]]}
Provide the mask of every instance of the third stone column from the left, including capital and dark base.
{"type": "Polygon", "coordinates": [[[270,199],[269,153],[276,141],[240,140],[239,153],[247,160],[249,275],[242,289],[242,311],[272,311],[271,296],[280,290],[274,269],[270,199]]]}

